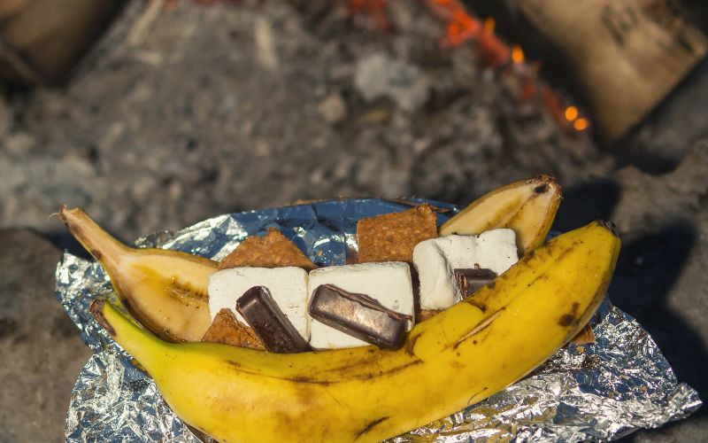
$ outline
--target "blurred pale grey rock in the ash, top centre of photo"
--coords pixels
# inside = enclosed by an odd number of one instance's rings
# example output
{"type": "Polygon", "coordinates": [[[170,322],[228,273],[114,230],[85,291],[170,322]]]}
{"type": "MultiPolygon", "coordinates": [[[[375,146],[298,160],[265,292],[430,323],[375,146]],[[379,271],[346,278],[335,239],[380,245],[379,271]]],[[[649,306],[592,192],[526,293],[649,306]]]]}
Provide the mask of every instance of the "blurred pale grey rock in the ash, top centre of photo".
{"type": "Polygon", "coordinates": [[[389,97],[409,113],[416,111],[430,95],[430,80],[418,66],[382,53],[359,59],[354,86],[366,101],[389,97]]]}

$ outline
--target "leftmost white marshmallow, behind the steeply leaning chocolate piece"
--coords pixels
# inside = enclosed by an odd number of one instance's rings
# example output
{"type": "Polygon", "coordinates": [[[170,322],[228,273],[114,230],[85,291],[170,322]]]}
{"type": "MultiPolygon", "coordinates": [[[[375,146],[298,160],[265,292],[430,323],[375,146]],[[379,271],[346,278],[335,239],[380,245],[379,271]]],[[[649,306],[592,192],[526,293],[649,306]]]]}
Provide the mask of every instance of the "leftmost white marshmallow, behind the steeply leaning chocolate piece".
{"type": "MultiPolygon", "coordinates": [[[[305,340],[310,338],[310,316],[307,315],[307,271],[303,268],[228,268],[209,278],[209,313],[212,320],[224,307],[236,312],[236,299],[253,286],[265,286],[273,300],[305,340]]],[[[248,324],[248,323],[247,323],[248,324]]]]}

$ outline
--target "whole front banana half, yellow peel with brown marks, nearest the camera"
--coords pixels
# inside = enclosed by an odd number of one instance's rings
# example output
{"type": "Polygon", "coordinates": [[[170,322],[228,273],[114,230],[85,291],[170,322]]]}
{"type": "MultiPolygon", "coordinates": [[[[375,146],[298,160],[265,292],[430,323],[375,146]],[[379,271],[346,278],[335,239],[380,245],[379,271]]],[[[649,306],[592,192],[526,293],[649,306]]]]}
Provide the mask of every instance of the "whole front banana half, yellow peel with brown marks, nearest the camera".
{"type": "Polygon", "coordinates": [[[170,344],[109,303],[91,312],[174,412],[221,442],[378,441],[486,399],[548,359],[596,311],[619,250],[602,221],[556,237],[417,324],[397,351],[170,344]]]}

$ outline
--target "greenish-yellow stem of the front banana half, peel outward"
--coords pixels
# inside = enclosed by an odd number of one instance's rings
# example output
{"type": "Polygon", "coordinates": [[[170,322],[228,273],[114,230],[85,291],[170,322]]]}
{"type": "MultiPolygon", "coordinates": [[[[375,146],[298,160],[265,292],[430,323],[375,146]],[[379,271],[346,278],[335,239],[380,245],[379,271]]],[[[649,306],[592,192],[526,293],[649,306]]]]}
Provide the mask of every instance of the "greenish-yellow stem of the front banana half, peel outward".
{"type": "Polygon", "coordinates": [[[131,322],[116,307],[105,300],[96,299],[89,308],[91,315],[116,342],[135,357],[150,372],[155,358],[164,353],[169,344],[143,330],[137,323],[131,322]]]}

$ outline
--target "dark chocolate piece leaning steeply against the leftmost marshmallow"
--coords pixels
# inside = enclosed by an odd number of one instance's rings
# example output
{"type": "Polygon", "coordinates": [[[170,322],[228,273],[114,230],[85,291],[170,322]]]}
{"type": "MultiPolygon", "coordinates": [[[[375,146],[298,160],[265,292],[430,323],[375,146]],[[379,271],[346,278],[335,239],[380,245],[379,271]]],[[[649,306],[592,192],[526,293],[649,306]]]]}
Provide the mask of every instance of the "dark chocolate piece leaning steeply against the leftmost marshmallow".
{"type": "Polygon", "coordinates": [[[236,300],[236,310],[263,340],[268,351],[292,354],[310,350],[310,346],[282,313],[265,287],[253,286],[243,292],[236,300]]]}

